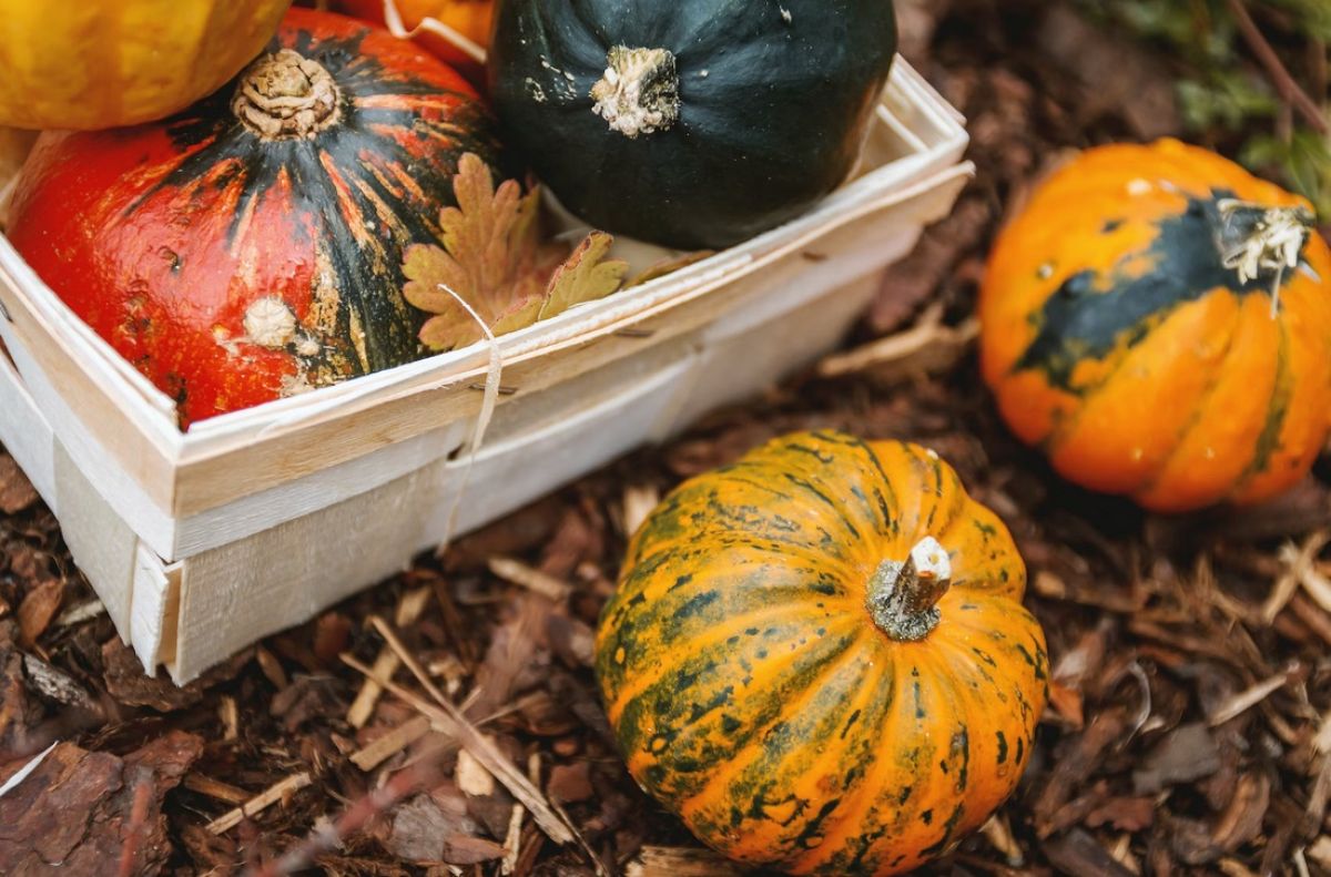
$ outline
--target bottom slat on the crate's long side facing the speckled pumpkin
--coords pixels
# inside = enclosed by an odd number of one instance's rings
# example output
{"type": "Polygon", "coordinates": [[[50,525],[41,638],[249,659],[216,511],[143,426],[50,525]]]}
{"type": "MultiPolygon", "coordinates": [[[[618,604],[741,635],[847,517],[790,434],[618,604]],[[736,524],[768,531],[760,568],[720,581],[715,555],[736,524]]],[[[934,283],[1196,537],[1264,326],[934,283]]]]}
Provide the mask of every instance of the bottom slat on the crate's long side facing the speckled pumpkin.
{"type": "Polygon", "coordinates": [[[496,444],[475,460],[439,460],[367,494],[182,562],[174,641],[162,652],[178,683],[250,643],[299,624],[642,443],[673,413],[692,355],[556,425],[496,444]],[[514,472],[522,476],[515,478],[514,472]],[[465,486],[463,479],[466,478],[465,486]],[[461,491],[461,496],[459,496],[461,491]],[[457,514],[454,516],[454,510],[457,514]]]}

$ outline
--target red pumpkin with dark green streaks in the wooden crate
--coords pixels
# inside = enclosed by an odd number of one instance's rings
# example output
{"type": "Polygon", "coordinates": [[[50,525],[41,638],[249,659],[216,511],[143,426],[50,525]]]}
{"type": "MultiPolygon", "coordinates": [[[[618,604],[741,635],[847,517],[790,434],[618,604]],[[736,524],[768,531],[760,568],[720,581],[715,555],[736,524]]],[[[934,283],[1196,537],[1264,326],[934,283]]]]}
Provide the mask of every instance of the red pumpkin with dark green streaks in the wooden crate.
{"type": "Polygon", "coordinates": [[[498,149],[453,69],[291,9],[182,114],[43,134],[9,237],[188,425],[422,355],[402,252],[437,242],[467,152],[498,149]]]}

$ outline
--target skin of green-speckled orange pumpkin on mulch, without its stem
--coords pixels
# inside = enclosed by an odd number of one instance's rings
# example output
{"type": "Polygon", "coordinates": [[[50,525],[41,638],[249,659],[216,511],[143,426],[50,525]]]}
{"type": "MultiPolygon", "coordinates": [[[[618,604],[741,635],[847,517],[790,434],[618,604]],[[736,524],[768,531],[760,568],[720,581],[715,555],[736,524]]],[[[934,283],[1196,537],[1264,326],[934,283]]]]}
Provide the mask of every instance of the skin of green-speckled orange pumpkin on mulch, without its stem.
{"type": "Polygon", "coordinates": [[[1047,696],[1008,530],[925,448],[776,439],[634,536],[596,671],[628,771],[705,844],[792,874],[894,874],[1012,793],[1047,696]],[[952,587],[902,641],[872,596],[934,536],[952,587]]]}

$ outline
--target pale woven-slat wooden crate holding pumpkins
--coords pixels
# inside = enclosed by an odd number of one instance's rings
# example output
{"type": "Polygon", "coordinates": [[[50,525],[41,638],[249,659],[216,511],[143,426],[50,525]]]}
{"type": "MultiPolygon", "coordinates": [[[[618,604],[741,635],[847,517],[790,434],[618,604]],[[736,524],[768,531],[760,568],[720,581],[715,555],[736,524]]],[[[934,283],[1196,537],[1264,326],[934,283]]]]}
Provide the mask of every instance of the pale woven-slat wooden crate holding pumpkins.
{"type": "Polygon", "coordinates": [[[0,440],[145,669],[184,683],[405,568],[455,506],[457,532],[479,527],[827,351],[950,210],[965,146],[898,59],[860,170],[807,216],[502,337],[514,391],[474,454],[479,345],[182,434],[0,237],[0,440]]]}

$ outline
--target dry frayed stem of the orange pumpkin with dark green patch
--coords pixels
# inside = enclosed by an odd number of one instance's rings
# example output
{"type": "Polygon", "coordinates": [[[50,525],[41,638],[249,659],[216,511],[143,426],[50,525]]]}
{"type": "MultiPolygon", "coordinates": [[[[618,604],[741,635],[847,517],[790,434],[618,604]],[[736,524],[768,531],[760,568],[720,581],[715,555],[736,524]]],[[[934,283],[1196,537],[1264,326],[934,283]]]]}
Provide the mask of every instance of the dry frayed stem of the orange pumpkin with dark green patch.
{"type": "Polygon", "coordinates": [[[1299,266],[1316,217],[1304,206],[1264,208],[1235,198],[1215,206],[1221,213],[1217,245],[1225,267],[1238,271],[1239,283],[1274,273],[1271,315],[1275,317],[1284,271],[1299,266]]]}

